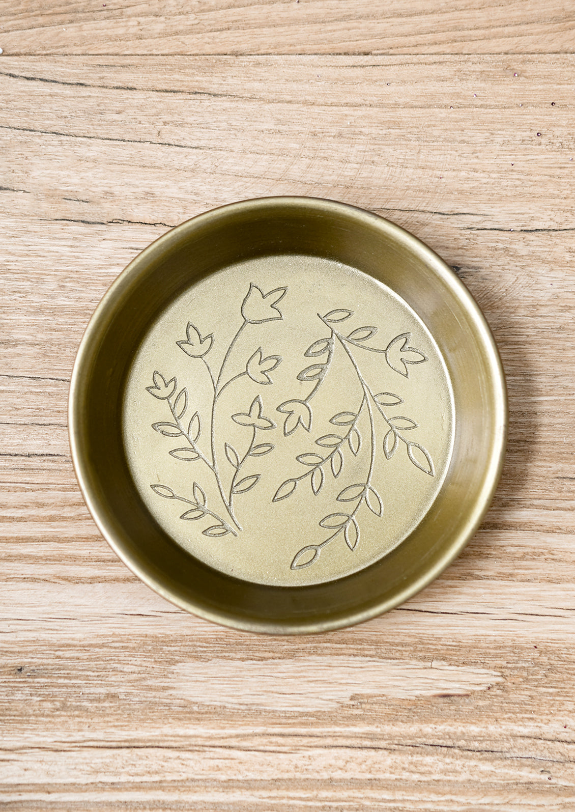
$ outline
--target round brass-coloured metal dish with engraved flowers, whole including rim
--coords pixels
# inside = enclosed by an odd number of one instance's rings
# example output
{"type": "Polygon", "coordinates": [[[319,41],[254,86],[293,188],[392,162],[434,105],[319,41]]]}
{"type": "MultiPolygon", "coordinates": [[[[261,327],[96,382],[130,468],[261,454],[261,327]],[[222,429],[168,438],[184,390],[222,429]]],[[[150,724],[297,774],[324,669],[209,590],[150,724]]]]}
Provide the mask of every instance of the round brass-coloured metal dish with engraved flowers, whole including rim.
{"type": "Polygon", "coordinates": [[[76,359],[72,458],[98,527],[177,606],[313,633],[421,590],[504,456],[477,304],[413,235],[334,201],[202,214],[110,287],[76,359]]]}

